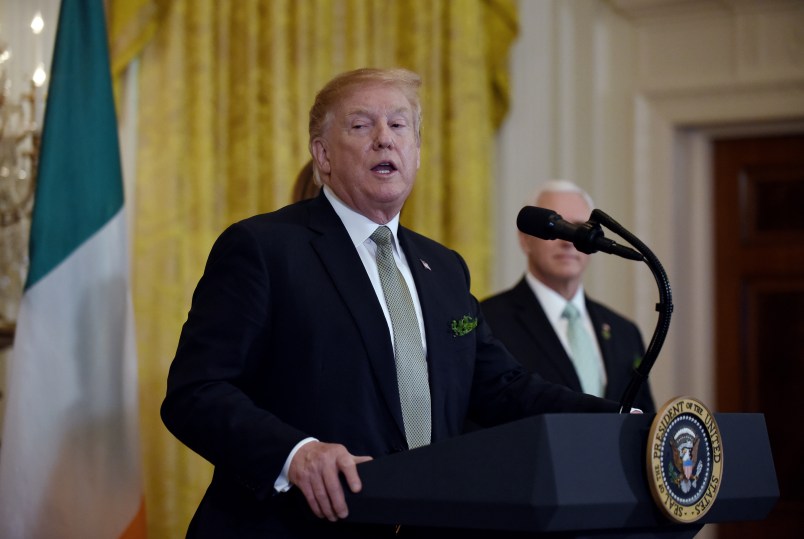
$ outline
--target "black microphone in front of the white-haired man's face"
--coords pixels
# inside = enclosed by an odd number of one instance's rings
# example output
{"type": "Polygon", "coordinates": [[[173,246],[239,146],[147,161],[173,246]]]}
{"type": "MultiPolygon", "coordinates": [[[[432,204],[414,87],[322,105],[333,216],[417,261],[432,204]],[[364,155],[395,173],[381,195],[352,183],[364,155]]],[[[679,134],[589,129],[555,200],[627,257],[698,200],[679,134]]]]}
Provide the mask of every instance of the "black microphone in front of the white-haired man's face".
{"type": "Polygon", "coordinates": [[[525,206],[519,211],[516,226],[529,236],[543,240],[568,241],[580,252],[588,255],[603,251],[629,260],[644,260],[638,251],[603,237],[603,229],[594,221],[582,224],[570,223],[553,210],[546,208],[525,206]]]}

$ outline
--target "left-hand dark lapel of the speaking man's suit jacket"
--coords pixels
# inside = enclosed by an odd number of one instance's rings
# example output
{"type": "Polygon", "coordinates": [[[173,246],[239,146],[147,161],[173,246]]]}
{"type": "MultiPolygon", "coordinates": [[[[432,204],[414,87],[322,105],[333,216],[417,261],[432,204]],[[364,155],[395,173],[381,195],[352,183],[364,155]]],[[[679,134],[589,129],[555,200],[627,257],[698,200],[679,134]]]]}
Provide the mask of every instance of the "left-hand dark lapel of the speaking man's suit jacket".
{"type": "Polygon", "coordinates": [[[311,204],[311,244],[354,318],[386,405],[404,434],[393,345],[382,308],[346,228],[324,195],[311,204]]]}

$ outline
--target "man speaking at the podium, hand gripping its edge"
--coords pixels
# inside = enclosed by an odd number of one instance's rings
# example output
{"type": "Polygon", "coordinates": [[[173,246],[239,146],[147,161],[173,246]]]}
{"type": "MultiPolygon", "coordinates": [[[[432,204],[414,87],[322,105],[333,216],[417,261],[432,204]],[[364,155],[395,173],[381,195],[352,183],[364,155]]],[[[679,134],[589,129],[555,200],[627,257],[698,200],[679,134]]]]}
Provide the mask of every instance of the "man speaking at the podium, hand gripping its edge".
{"type": "Polygon", "coordinates": [[[322,192],[212,247],[161,409],[215,466],[188,537],[394,537],[342,522],[340,479],[359,492],[358,464],[459,435],[467,416],[618,411],[527,373],[491,335],[460,255],[399,224],[419,85],[402,69],[330,81],[309,123],[322,192]]]}

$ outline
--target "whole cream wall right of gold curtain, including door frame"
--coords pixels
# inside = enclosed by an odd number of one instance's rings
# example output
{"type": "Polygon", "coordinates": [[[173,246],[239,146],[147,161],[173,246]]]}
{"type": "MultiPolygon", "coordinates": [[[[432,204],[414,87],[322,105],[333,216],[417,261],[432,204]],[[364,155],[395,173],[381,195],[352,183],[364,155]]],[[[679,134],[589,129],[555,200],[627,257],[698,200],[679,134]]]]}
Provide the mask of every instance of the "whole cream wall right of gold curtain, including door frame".
{"type": "MultiPolygon", "coordinates": [[[[651,374],[657,401],[713,406],[709,142],[804,130],[804,3],[520,0],[520,18],[497,141],[493,288],[523,271],[514,220],[533,184],[574,179],[668,273],[675,312],[651,374]]],[[[597,254],[586,286],[650,338],[647,266],[597,254]]]]}

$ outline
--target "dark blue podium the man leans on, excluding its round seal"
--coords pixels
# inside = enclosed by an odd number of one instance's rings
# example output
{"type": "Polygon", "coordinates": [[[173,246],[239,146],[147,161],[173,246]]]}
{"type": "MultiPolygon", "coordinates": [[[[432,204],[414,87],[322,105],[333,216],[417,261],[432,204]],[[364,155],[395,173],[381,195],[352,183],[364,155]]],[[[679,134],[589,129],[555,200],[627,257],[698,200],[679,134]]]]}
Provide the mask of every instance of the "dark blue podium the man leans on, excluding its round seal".
{"type": "MultiPolygon", "coordinates": [[[[723,478],[711,509],[678,524],[654,503],[652,414],[548,414],[360,464],[348,520],[540,537],[693,537],[760,520],[779,497],[762,414],[715,414],[723,478]]],[[[348,489],[345,489],[348,491],[348,489]]],[[[494,537],[490,534],[489,537],[494,537]]]]}

